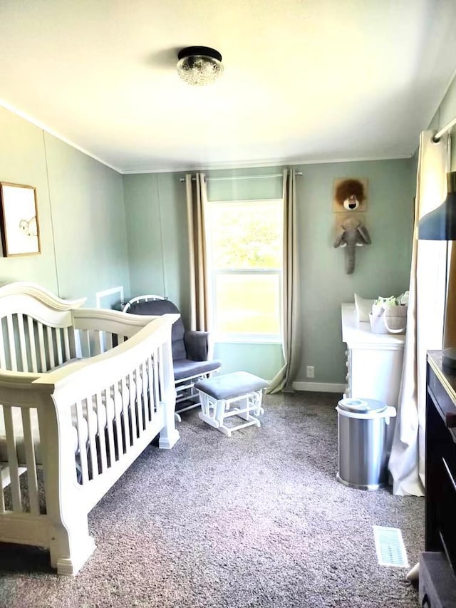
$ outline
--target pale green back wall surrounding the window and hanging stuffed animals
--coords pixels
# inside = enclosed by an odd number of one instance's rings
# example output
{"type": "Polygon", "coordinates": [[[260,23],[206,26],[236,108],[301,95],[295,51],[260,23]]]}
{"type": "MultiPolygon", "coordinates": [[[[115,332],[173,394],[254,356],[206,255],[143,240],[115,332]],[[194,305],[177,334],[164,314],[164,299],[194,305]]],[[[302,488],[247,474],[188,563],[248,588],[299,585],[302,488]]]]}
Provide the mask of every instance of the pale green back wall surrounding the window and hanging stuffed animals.
{"type": "MultiPolygon", "coordinates": [[[[209,200],[281,197],[282,167],[207,171],[209,200]],[[229,180],[218,180],[230,177],[229,180]],[[240,178],[239,178],[240,177],[240,178]],[[212,178],[212,180],[210,179],[212,178]],[[216,179],[214,179],[216,178],[216,179]]],[[[344,383],[340,307],[364,297],[399,294],[410,274],[415,163],[388,160],[296,166],[299,254],[301,261],[302,360],[296,381],[307,381],[307,365],[316,383],[344,383]],[[345,273],[345,251],[334,249],[333,180],[365,177],[368,209],[364,214],[372,244],[358,247],[356,270],[345,273]]],[[[188,318],[188,255],[185,183],[182,173],[126,175],[131,295],[165,294],[188,318]]],[[[223,371],[244,369],[271,378],[281,366],[279,344],[216,344],[223,371]]]]}

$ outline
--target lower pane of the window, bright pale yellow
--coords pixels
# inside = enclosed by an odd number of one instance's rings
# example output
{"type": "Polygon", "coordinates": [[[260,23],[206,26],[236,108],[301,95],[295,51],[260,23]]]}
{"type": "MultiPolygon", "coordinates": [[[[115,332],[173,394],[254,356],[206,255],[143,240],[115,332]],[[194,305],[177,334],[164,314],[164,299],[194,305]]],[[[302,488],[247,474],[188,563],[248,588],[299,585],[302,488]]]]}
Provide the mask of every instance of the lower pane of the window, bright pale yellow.
{"type": "Polygon", "coordinates": [[[279,336],[278,274],[217,274],[216,331],[279,336]]]}

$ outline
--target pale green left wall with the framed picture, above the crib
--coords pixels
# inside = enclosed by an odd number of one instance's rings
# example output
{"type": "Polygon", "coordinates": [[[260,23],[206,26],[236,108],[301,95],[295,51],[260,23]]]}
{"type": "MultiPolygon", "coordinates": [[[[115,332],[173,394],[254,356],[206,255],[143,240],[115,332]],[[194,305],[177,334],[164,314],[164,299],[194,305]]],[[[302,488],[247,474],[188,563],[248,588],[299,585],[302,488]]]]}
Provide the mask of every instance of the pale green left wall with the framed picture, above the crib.
{"type": "Polygon", "coordinates": [[[41,254],[0,257],[0,282],[61,297],[130,291],[122,175],[0,108],[0,181],[36,187],[41,254]]]}

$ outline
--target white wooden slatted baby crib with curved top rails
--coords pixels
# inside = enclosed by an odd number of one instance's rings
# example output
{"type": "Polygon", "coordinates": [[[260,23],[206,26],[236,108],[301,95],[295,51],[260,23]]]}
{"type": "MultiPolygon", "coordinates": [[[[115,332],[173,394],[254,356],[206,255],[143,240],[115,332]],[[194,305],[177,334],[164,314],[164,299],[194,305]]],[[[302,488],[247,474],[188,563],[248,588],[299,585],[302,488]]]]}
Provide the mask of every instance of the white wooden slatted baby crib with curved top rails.
{"type": "Polygon", "coordinates": [[[150,441],[179,439],[177,315],[84,302],[32,283],[0,287],[0,542],[48,548],[58,574],[93,553],[88,512],[150,441]]]}

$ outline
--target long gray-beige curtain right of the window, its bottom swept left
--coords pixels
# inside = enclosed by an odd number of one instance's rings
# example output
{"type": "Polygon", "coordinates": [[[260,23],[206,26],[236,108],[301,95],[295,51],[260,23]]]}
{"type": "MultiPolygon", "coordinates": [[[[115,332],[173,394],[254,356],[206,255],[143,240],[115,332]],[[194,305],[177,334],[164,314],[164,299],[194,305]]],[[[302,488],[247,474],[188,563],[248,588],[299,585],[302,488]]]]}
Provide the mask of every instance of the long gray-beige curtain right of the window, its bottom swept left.
{"type": "Polygon", "coordinates": [[[282,285],[282,349],[285,364],[271,380],[268,393],[293,391],[292,382],[299,366],[301,330],[299,328],[299,257],[296,219],[296,174],[284,170],[284,262],[282,285]]]}

